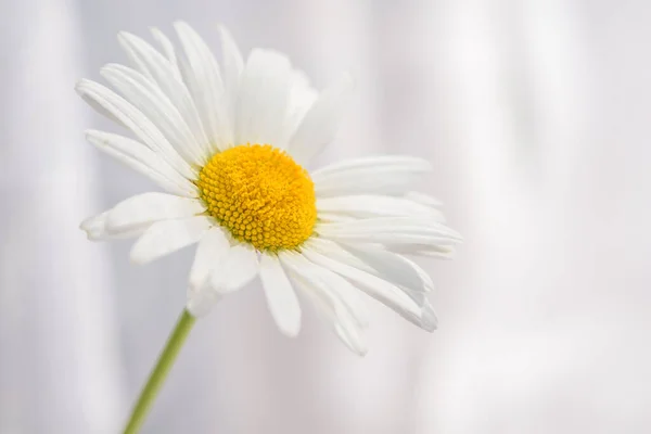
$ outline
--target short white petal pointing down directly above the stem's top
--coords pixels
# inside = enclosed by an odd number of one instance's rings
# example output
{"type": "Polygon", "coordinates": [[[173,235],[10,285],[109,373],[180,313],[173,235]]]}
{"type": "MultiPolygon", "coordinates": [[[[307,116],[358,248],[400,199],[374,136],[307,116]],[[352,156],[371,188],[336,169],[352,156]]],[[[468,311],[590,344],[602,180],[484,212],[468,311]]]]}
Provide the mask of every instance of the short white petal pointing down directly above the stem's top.
{"type": "Polygon", "coordinates": [[[199,291],[206,283],[210,272],[224,260],[230,250],[230,242],[224,229],[212,227],[199,242],[194,263],[190,269],[190,290],[199,291]]]}

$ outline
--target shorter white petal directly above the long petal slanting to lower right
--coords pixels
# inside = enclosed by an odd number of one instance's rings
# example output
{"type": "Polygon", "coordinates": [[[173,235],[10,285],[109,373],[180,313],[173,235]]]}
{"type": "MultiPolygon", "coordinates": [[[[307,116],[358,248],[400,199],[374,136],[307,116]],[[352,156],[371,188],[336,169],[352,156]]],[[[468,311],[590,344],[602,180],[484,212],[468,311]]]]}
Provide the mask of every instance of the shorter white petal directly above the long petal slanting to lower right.
{"type": "Polygon", "coordinates": [[[361,245],[344,244],[344,248],[373,267],[378,271],[378,276],[395,285],[405,286],[413,291],[433,290],[431,279],[429,277],[427,279],[423,279],[419,272],[420,267],[400,255],[382,248],[361,245]]]}

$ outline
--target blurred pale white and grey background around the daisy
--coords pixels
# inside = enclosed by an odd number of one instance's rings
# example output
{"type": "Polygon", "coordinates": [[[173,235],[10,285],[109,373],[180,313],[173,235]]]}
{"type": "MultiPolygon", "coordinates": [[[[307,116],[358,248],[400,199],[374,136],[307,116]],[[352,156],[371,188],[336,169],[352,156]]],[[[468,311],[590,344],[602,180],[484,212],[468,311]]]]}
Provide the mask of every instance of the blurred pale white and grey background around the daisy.
{"type": "MultiPolygon", "coordinates": [[[[258,283],[197,322],[144,433],[651,432],[651,2],[1,0],[0,433],[117,433],[186,298],[81,219],[149,180],[84,142],[76,95],[116,33],[188,21],[219,53],[358,81],[319,163],[409,153],[465,237],[421,260],[427,334],[373,304],[358,358],[314,315],[283,337],[258,283]]],[[[309,308],[308,308],[309,310],[309,308]]]]}

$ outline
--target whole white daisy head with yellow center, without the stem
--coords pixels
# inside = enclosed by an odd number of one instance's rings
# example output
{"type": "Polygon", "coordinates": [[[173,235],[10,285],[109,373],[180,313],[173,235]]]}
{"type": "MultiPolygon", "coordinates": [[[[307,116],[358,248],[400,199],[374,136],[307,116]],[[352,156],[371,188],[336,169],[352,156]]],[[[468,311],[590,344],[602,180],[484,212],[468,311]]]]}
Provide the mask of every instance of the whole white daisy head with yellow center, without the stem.
{"type": "Polygon", "coordinates": [[[244,61],[225,28],[219,65],[190,26],[175,28],[179,51],[157,29],[161,51],[119,34],[132,67],[101,69],[117,93],[86,79],[76,87],[135,136],[88,130],[88,140],[167,191],[85,220],[89,239],[138,237],[138,264],[199,243],[187,305],[195,317],[259,276],[290,336],[301,328],[296,290],[358,354],[367,311],[357,290],[434,330],[432,281],[403,256],[447,258],[461,240],[436,200],[410,191],[430,164],[370,156],[308,171],[335,136],[350,78],[317,92],[283,54],[255,49],[244,61]]]}

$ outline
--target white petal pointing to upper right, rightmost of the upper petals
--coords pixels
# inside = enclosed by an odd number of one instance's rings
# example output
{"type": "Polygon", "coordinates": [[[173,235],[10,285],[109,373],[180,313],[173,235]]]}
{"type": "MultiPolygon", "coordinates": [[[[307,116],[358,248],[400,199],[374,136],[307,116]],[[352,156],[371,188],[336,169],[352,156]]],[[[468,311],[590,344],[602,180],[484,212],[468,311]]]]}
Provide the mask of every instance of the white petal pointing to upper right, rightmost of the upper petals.
{"type": "Polygon", "coordinates": [[[306,165],[334,140],[353,87],[352,77],[344,75],[310,106],[288,148],[298,164],[306,165]]]}

